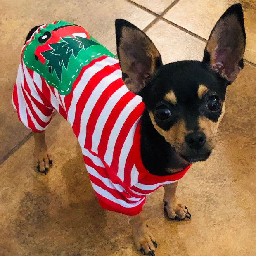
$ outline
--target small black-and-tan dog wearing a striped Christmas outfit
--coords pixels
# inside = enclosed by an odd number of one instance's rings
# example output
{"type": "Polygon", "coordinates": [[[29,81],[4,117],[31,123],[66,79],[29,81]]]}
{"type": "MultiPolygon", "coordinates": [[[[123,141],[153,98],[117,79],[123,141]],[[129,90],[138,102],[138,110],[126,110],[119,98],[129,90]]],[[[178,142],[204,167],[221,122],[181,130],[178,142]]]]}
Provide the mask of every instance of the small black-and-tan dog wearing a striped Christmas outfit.
{"type": "Polygon", "coordinates": [[[245,38],[240,4],[218,20],[202,62],[163,65],[145,33],[122,19],[116,20],[118,59],[75,24],[33,28],[13,104],[35,132],[38,171],[47,174],[52,166],[44,130],[57,109],[78,138],[100,205],[133,216],[137,249],[154,255],[142,211],[146,195],[164,185],[168,217],[190,219],[175,196],[178,180],[215,146],[226,88],[243,69],[245,38]]]}

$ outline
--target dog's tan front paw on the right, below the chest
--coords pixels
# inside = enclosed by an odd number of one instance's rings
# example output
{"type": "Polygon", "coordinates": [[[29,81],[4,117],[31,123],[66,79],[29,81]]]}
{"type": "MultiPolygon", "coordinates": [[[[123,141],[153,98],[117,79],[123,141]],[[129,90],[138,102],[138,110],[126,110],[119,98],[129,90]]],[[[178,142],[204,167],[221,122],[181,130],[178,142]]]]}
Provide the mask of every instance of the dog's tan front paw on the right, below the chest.
{"type": "Polygon", "coordinates": [[[164,211],[168,214],[171,220],[185,220],[185,218],[191,219],[191,214],[184,204],[181,204],[178,200],[175,202],[164,202],[164,211]]]}

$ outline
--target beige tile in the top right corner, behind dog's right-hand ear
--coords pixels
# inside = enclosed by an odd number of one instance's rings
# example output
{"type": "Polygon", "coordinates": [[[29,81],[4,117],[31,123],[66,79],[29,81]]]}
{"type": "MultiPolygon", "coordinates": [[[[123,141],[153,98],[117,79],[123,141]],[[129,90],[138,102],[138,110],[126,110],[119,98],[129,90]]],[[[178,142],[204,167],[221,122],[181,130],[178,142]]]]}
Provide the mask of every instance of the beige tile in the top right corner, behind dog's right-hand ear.
{"type": "Polygon", "coordinates": [[[247,47],[245,58],[256,64],[256,1],[180,0],[164,18],[208,39],[213,26],[230,5],[241,2],[244,9],[247,47]]]}

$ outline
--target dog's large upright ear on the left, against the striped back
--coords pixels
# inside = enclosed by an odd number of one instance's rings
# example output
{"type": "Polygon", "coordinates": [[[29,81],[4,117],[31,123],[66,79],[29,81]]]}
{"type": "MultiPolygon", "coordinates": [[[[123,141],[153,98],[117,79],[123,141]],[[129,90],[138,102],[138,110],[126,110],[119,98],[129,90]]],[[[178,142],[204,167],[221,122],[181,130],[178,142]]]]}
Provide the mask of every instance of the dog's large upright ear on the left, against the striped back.
{"type": "Polygon", "coordinates": [[[123,81],[139,94],[162,65],[161,55],[143,31],[123,19],[116,20],[116,48],[123,81]]]}

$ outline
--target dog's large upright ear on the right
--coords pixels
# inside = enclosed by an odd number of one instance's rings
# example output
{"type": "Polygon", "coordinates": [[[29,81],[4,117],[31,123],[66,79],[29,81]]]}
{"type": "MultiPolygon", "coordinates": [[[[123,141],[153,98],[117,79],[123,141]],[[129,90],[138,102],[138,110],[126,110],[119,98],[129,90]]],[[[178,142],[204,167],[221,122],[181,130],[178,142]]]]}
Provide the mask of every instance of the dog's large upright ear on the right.
{"type": "Polygon", "coordinates": [[[245,38],[242,5],[232,5],[211,31],[203,59],[229,84],[235,81],[244,67],[245,38]]]}

